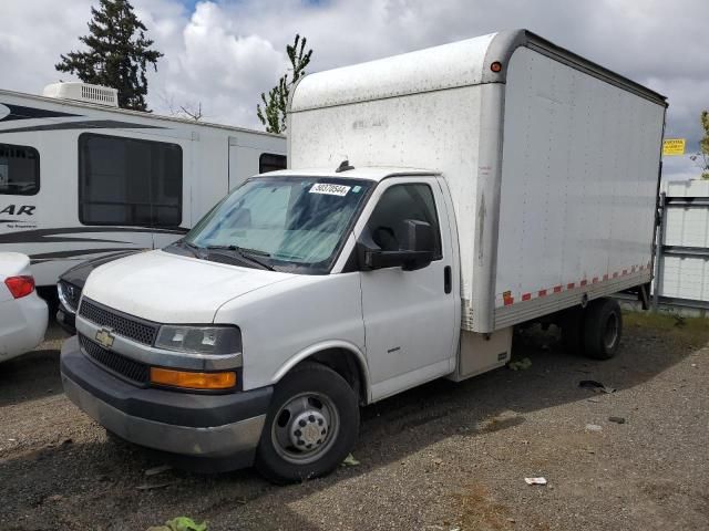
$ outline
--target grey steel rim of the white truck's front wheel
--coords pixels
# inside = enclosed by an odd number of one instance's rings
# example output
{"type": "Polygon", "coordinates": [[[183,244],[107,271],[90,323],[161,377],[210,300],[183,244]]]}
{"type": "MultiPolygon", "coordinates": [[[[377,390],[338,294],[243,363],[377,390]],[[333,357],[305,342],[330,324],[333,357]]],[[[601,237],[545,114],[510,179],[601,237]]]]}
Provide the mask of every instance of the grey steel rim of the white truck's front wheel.
{"type": "Polygon", "coordinates": [[[271,424],[276,452],[295,465],[318,460],[335,442],[340,417],[332,400],[321,393],[301,393],[281,406],[271,424]]]}

